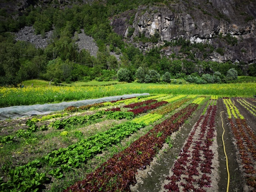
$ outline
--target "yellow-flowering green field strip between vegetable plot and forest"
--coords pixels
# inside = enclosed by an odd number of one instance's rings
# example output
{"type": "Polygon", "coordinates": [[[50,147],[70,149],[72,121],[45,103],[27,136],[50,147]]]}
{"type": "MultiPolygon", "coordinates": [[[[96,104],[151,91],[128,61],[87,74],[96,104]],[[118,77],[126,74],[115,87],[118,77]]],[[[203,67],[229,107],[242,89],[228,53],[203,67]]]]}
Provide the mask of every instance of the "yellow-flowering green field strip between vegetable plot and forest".
{"type": "MultiPolygon", "coordinates": [[[[37,83],[42,85],[41,81],[37,83]]],[[[29,83],[29,86],[25,88],[0,87],[0,107],[79,101],[131,93],[252,97],[256,94],[256,83],[214,85],[125,83],[110,86],[34,85],[34,87],[31,87],[31,83],[29,83]]]]}

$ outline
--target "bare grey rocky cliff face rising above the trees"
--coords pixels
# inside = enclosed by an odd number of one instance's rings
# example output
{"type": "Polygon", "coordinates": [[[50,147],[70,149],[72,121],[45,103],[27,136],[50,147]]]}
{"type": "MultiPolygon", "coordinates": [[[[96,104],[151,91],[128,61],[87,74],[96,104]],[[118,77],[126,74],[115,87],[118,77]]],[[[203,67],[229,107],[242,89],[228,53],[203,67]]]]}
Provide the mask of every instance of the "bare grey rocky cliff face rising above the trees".
{"type": "MultiPolygon", "coordinates": [[[[219,53],[213,51],[208,55],[209,60],[256,62],[255,0],[176,0],[158,6],[139,6],[113,17],[111,25],[119,35],[128,37],[128,42],[144,50],[182,37],[219,48],[219,53]],[[129,30],[134,30],[132,36],[129,30]],[[140,43],[136,38],[141,34],[150,38],[155,33],[160,35],[158,43],[140,43]]],[[[162,49],[166,55],[177,50],[162,49]]]]}

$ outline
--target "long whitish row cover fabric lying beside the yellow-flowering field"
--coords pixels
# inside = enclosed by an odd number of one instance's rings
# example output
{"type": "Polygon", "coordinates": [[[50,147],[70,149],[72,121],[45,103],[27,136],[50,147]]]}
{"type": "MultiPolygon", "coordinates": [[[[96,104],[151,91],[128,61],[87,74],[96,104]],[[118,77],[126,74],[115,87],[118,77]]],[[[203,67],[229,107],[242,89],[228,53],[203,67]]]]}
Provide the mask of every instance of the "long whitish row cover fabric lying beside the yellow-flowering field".
{"type": "Polygon", "coordinates": [[[108,97],[103,97],[99,99],[70,101],[70,102],[61,102],[61,103],[43,104],[43,105],[37,104],[37,105],[29,105],[29,106],[4,107],[4,108],[0,108],[0,120],[15,119],[15,118],[27,117],[32,115],[45,115],[51,112],[64,110],[66,107],[69,107],[69,106],[80,107],[84,105],[91,105],[94,103],[116,101],[119,99],[127,99],[131,97],[145,96],[145,95],[149,95],[149,93],[130,94],[130,95],[123,95],[123,96],[108,96],[108,97]]]}

